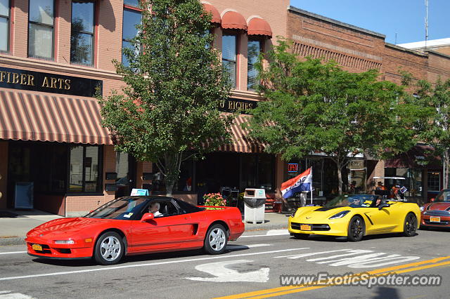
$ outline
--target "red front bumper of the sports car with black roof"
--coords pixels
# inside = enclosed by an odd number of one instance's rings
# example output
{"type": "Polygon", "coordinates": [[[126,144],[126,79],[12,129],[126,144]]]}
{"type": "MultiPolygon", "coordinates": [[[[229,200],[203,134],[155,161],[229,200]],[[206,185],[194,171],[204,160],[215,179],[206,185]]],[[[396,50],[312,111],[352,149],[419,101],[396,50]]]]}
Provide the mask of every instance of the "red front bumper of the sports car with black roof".
{"type": "Polygon", "coordinates": [[[37,258],[56,258],[63,260],[72,260],[80,258],[91,258],[93,253],[93,244],[55,244],[53,241],[41,239],[39,237],[27,237],[27,253],[37,258]],[[41,246],[41,250],[33,248],[33,245],[41,246]]]}

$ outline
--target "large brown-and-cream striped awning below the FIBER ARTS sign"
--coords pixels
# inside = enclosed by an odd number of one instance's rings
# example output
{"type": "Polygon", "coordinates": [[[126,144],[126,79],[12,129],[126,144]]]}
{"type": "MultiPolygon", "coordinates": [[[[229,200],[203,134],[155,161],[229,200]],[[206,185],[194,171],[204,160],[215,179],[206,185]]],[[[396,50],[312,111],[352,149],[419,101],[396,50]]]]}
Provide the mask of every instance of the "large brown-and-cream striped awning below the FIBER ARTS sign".
{"type": "Polygon", "coordinates": [[[113,145],[95,99],[0,91],[0,139],[113,145]]]}

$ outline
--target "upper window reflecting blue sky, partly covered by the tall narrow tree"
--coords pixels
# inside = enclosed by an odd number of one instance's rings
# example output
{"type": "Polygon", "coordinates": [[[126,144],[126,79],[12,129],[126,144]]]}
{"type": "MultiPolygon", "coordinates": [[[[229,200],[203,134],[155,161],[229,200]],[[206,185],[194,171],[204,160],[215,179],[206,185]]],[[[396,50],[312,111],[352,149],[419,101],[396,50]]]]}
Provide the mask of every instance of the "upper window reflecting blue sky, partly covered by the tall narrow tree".
{"type": "MultiPolygon", "coordinates": [[[[133,48],[131,40],[138,35],[138,29],[136,28],[136,26],[141,24],[141,18],[142,15],[141,10],[139,9],[139,0],[124,0],[122,49],[133,48]]],[[[126,66],[129,65],[127,56],[125,56],[124,54],[122,54],[122,64],[126,66]]]]}

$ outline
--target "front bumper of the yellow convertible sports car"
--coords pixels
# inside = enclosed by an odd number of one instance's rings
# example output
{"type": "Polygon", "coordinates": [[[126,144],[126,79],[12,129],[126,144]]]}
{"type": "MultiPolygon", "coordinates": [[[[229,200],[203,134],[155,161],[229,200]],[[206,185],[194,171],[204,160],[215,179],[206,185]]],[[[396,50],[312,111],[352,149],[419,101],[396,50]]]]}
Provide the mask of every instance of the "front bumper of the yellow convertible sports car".
{"type": "Polygon", "coordinates": [[[290,234],[323,234],[326,236],[347,236],[347,220],[336,219],[326,223],[308,222],[290,217],[288,221],[288,231],[290,234]],[[301,225],[310,225],[311,230],[302,230],[301,225]]]}

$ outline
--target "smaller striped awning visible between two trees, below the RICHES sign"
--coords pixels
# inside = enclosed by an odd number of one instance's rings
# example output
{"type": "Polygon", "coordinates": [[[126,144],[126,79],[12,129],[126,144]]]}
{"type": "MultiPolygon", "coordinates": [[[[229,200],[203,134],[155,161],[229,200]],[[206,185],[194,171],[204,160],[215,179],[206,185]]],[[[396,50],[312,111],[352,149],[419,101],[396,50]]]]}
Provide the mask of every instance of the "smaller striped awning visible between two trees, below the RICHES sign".
{"type": "Polygon", "coordinates": [[[217,149],[218,152],[263,152],[264,145],[257,140],[248,137],[248,130],[244,130],[241,124],[248,121],[249,115],[240,114],[231,124],[231,140],[229,145],[222,145],[217,149]]]}

